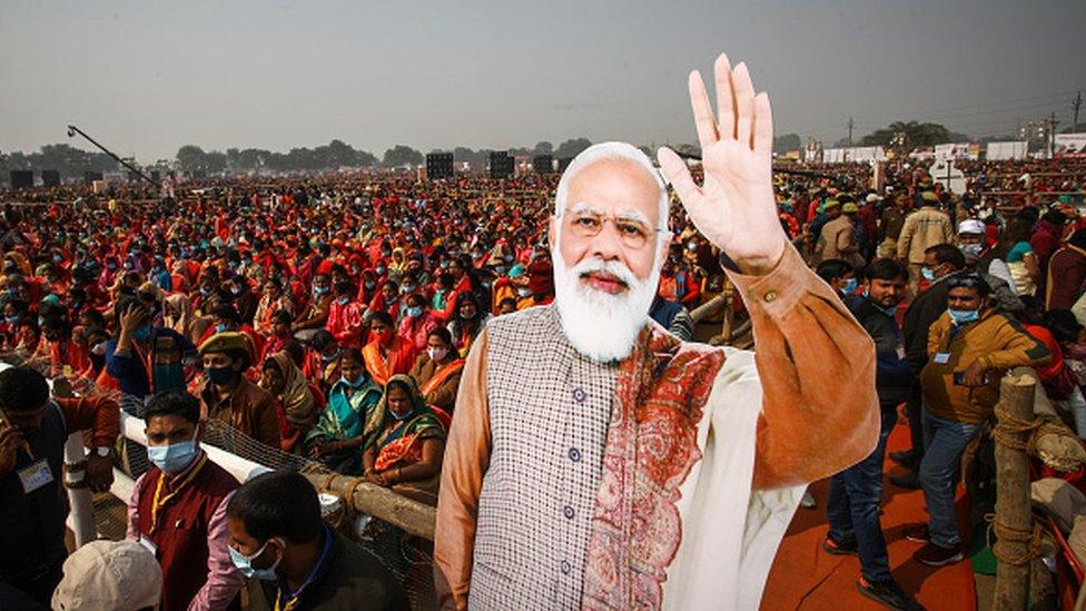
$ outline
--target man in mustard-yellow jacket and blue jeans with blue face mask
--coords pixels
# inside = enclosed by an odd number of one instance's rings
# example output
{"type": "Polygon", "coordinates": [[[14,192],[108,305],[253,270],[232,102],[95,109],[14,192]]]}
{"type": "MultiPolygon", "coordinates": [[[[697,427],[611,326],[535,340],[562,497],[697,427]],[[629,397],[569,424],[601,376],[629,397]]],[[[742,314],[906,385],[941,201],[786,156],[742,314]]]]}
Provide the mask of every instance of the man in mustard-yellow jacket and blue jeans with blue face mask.
{"type": "Polygon", "coordinates": [[[914,558],[930,566],[962,559],[954,510],[961,453],[991,416],[999,380],[1019,366],[1043,365],[1052,354],[1016,321],[996,312],[988,284],[976,274],[946,280],[947,311],[928,333],[920,372],[925,453],[919,465],[928,524],[906,534],[926,543],[914,558]]]}

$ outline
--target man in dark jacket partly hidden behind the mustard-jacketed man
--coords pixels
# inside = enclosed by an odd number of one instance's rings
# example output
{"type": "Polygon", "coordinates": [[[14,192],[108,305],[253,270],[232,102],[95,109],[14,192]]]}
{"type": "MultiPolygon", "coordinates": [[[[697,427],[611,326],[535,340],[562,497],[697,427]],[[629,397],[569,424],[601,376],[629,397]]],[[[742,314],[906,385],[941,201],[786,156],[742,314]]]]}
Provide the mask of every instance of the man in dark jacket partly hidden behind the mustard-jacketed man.
{"type": "MultiPolygon", "coordinates": [[[[947,311],[947,285],[941,280],[948,278],[951,274],[962,270],[965,266],[966,257],[957,246],[950,244],[929,246],[924,252],[924,265],[920,268],[920,273],[931,284],[927,290],[917,295],[917,298],[912,300],[909,309],[905,313],[905,323],[901,326],[901,333],[905,337],[906,358],[912,368],[915,381],[906,404],[906,411],[909,415],[909,436],[911,437],[912,449],[906,452],[894,452],[890,454],[890,459],[909,469],[920,464],[920,460],[924,457],[924,425],[920,420],[920,384],[916,380],[920,375],[920,369],[928,363],[928,327],[947,311]]],[[[889,480],[890,483],[901,487],[912,490],[920,487],[915,472],[902,475],[890,475],[889,480]]]]}

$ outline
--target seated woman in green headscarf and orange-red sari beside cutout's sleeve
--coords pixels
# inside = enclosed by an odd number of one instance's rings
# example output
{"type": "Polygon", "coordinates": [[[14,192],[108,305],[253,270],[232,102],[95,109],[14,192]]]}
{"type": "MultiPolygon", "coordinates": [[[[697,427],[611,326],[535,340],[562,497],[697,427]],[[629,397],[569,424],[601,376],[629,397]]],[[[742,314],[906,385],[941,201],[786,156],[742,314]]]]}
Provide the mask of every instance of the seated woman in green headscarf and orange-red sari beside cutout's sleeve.
{"type": "Polygon", "coordinates": [[[415,381],[394,375],[366,420],[363,473],[369,482],[431,505],[437,504],[445,428],[415,381]]]}

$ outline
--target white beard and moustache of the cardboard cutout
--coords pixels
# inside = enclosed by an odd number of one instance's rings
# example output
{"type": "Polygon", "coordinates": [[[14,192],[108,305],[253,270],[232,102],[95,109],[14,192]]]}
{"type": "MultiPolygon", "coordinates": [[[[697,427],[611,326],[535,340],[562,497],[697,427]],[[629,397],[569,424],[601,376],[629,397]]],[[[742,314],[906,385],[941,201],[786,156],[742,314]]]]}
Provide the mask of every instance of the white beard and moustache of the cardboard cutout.
{"type": "Polygon", "coordinates": [[[589,259],[573,268],[565,265],[557,245],[554,259],[554,306],[562,331],[577,352],[596,362],[622,361],[633,351],[638,333],[648,323],[649,308],[660,283],[660,265],[653,265],[646,280],[619,262],[589,259]],[[591,272],[614,274],[626,290],[611,295],[581,282],[591,272]]]}

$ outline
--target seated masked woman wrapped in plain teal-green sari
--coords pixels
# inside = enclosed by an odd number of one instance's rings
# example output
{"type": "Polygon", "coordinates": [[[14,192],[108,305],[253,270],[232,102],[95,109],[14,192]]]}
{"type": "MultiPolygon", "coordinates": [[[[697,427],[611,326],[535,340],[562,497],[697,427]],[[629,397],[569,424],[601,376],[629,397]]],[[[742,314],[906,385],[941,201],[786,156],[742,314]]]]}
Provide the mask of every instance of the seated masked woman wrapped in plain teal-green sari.
{"type": "Polygon", "coordinates": [[[306,434],[306,454],[345,475],[362,472],[359,450],[367,440],[366,426],[381,402],[381,386],[366,374],[362,352],[339,353],[339,380],[328,391],[328,408],[306,434]]]}

